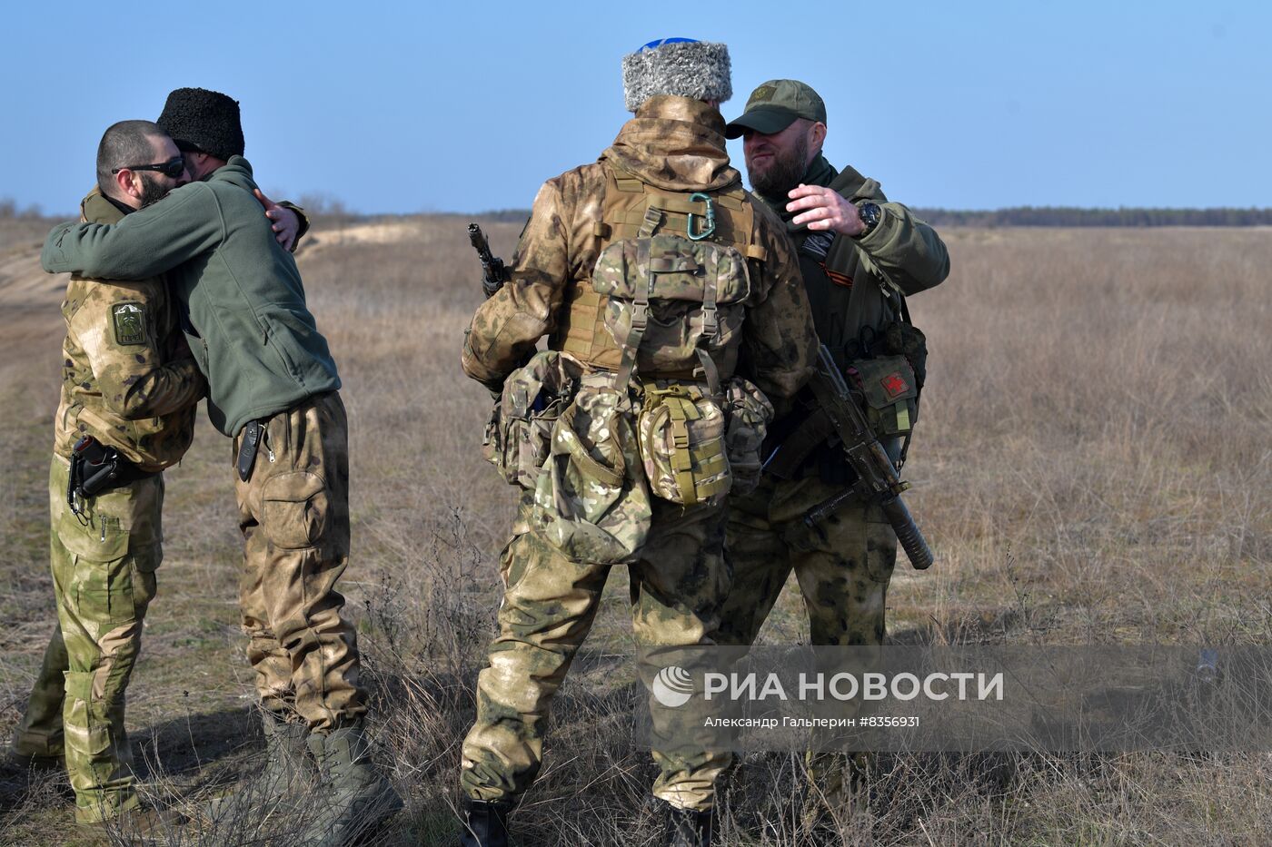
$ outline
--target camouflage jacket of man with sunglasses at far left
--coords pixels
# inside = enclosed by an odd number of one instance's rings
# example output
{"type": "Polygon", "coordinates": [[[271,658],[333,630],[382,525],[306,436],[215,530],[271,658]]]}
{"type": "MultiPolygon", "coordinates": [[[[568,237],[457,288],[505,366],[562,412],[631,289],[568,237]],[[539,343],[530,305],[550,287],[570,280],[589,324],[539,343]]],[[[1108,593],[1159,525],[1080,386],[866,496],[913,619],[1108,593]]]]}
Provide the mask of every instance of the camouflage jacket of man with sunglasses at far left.
{"type": "MultiPolygon", "coordinates": [[[[97,189],[80,210],[89,223],[123,217],[97,189]]],[[[57,454],[70,457],[75,441],[88,434],[144,471],[176,464],[193,439],[195,407],[207,385],[183,343],[164,281],[73,276],[62,317],[57,454]]]]}

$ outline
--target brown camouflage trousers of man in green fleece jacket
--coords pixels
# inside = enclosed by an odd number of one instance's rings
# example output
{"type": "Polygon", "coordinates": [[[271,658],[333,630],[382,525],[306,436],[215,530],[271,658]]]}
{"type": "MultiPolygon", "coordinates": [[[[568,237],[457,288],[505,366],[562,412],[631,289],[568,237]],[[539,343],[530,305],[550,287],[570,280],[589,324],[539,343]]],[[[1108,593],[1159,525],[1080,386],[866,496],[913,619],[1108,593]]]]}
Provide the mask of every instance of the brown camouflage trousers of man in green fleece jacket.
{"type": "Polygon", "coordinates": [[[234,477],[248,660],[266,708],[327,731],[366,711],[357,636],[336,590],[349,565],[349,422],[329,392],[262,424],[251,476],[234,477]]]}

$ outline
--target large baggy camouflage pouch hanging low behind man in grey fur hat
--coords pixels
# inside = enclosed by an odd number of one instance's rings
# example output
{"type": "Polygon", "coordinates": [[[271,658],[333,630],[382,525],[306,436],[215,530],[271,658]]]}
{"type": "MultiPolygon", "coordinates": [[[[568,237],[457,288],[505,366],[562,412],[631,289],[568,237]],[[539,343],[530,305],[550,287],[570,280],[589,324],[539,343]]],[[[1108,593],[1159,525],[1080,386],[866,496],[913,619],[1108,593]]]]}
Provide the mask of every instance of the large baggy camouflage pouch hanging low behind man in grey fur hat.
{"type": "Polygon", "coordinates": [[[635,561],[653,521],[627,392],[612,380],[612,374],[583,380],[552,427],[534,488],[532,529],[576,562],[635,561]]]}

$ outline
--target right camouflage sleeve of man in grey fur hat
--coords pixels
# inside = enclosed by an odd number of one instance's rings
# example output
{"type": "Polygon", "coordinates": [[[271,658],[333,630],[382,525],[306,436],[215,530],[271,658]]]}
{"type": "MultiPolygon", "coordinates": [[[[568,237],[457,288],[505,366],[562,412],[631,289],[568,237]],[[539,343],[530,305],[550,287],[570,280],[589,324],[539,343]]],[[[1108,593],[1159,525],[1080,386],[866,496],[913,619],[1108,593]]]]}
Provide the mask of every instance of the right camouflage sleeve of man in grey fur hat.
{"type": "Polygon", "coordinates": [[[795,248],[772,212],[756,201],[756,238],[767,256],[757,275],[761,299],[743,327],[750,379],[784,408],[813,373],[817,331],[795,248]]]}

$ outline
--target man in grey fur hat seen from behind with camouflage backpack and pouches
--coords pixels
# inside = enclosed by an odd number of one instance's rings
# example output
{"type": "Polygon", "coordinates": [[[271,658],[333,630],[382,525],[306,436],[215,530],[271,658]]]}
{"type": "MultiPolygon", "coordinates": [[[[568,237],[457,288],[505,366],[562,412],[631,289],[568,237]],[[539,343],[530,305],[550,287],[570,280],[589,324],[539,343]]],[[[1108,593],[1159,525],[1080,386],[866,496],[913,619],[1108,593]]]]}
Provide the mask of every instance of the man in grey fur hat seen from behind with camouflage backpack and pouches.
{"type": "MultiPolygon", "coordinates": [[[[464,373],[501,393],[487,455],[524,488],[463,745],[469,847],[508,843],[611,568],[628,570],[642,647],[711,644],[729,590],[725,499],[758,477],[766,394],[784,403],[812,373],[790,242],[725,153],[728,48],[653,42],[623,59],[623,86],[635,117],[599,162],[539,189],[509,279],[464,340],[464,373]]],[[[731,757],[702,747],[653,744],[670,844],[711,842],[731,757]]]]}

